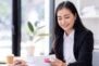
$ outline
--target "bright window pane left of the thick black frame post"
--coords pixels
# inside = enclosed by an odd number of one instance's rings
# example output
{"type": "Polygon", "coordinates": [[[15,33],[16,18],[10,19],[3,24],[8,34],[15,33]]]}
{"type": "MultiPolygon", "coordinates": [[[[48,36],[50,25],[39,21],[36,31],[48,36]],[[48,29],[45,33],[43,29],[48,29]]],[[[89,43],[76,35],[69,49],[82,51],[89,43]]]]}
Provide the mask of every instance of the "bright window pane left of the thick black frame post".
{"type": "Polygon", "coordinates": [[[12,0],[0,0],[0,62],[12,53],[12,0]]]}

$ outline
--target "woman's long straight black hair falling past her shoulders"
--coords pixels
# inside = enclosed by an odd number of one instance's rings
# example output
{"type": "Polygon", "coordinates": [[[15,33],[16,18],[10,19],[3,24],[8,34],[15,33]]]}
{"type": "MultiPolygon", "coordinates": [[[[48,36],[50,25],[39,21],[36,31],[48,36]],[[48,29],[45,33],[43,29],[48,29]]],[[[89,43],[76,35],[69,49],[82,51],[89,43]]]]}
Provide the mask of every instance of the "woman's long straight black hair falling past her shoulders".
{"type": "Polygon", "coordinates": [[[59,26],[59,24],[58,24],[58,16],[57,16],[58,11],[60,11],[62,9],[69,9],[72,12],[72,14],[76,16],[76,19],[75,19],[75,23],[74,23],[74,26],[73,26],[73,28],[75,30],[82,31],[82,30],[86,29],[84,27],[84,25],[82,24],[81,17],[78,15],[78,12],[77,12],[75,5],[72,2],[70,2],[70,1],[61,2],[57,6],[55,14],[54,14],[54,42],[53,42],[54,47],[55,47],[55,44],[60,45],[60,43],[63,43],[64,30],[59,26]]]}

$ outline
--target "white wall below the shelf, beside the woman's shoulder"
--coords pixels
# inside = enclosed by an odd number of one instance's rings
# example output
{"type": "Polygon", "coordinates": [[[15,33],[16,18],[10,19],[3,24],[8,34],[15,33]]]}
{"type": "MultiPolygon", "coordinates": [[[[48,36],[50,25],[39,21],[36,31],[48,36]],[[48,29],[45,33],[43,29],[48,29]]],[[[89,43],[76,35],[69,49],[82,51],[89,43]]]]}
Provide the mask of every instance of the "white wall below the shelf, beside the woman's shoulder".
{"type": "Polygon", "coordinates": [[[83,24],[94,32],[95,49],[99,49],[99,18],[82,18],[83,24]]]}

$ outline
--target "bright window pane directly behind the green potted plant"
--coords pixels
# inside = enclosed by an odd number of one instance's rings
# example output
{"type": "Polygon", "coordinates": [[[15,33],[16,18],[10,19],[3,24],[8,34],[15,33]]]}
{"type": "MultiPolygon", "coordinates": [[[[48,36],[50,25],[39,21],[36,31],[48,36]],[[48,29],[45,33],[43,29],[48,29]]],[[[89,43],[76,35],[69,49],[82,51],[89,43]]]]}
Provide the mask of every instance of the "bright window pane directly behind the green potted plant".
{"type": "MultiPolygon", "coordinates": [[[[33,37],[28,31],[27,23],[36,27],[42,27],[37,32],[49,34],[49,0],[22,0],[22,50],[21,55],[26,56],[28,54],[27,48],[29,45],[35,47],[35,56],[49,54],[49,35],[41,38],[39,41],[34,42],[38,37],[33,37]]],[[[36,28],[35,27],[35,28],[36,28]]],[[[34,29],[35,29],[34,28],[34,29]]]]}

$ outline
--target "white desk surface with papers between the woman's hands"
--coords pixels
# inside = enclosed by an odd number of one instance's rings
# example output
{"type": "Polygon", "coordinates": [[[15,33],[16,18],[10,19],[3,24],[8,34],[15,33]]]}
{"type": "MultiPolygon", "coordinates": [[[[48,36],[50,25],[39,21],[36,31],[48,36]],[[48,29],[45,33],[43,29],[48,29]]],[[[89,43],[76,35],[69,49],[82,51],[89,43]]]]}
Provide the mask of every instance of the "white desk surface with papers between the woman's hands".
{"type": "MultiPolygon", "coordinates": [[[[25,62],[27,62],[28,66],[50,66],[49,63],[45,62],[45,58],[54,58],[54,55],[48,55],[48,56],[32,56],[32,57],[27,57],[27,58],[20,58],[20,57],[15,57],[16,60],[24,60],[25,62]]],[[[8,66],[7,64],[0,64],[0,66],[8,66]]]]}

